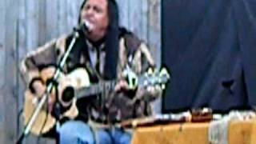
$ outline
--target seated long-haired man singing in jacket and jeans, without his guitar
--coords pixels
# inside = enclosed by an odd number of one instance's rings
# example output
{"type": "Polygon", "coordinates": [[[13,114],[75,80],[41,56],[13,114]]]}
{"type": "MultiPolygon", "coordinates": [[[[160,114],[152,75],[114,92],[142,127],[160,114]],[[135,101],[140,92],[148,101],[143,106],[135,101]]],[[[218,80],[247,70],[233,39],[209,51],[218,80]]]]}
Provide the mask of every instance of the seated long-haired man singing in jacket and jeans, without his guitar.
{"type": "MultiPolygon", "coordinates": [[[[161,90],[156,86],[130,90],[122,72],[130,67],[135,74],[143,74],[154,67],[154,60],[145,43],[119,27],[118,6],[114,0],[85,0],[79,14],[79,24],[86,22],[88,30],[78,30],[79,37],[62,67],[63,73],[84,67],[90,83],[115,79],[118,82],[114,90],[76,101],[78,116],[64,118],[60,126],[54,126],[59,143],[130,143],[131,131],[116,124],[149,115],[150,101],[161,95],[161,90]]],[[[47,82],[42,80],[42,75],[54,74],[73,36],[54,39],[24,58],[22,75],[31,93],[44,93],[47,82]]],[[[58,86],[59,91],[63,92],[66,85],[58,86]]],[[[61,107],[65,107],[62,94],[58,96],[61,107]]],[[[53,105],[54,100],[50,98],[47,102],[53,105]]]]}

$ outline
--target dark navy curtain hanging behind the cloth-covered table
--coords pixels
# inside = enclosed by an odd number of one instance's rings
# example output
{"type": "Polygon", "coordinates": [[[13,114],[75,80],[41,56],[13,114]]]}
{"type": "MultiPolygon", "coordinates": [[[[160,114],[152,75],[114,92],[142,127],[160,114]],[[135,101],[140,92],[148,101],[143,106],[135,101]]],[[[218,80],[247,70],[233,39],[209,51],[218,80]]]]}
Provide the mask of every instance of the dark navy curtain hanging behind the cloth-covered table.
{"type": "Polygon", "coordinates": [[[256,0],[163,0],[162,110],[256,104],[256,0]]]}

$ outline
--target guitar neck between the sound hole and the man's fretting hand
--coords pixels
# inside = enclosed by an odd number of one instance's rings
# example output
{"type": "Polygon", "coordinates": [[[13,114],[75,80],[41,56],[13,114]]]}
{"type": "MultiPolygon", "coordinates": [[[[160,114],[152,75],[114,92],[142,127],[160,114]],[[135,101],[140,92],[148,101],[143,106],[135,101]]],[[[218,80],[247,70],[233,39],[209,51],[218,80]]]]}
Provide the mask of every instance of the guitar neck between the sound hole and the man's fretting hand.
{"type": "Polygon", "coordinates": [[[114,90],[115,85],[116,81],[99,82],[97,84],[92,84],[75,90],[75,96],[76,98],[85,98],[95,94],[102,94],[106,91],[114,90]]]}

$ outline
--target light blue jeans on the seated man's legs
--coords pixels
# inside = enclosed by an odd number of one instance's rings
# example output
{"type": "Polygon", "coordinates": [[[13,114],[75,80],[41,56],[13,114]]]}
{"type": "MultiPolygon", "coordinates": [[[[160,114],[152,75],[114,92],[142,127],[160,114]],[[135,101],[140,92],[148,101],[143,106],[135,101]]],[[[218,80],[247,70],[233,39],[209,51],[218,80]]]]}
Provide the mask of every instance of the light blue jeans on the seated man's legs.
{"type": "Polygon", "coordinates": [[[118,128],[97,129],[95,133],[90,126],[81,121],[65,122],[59,129],[60,144],[129,144],[131,134],[118,128]]]}

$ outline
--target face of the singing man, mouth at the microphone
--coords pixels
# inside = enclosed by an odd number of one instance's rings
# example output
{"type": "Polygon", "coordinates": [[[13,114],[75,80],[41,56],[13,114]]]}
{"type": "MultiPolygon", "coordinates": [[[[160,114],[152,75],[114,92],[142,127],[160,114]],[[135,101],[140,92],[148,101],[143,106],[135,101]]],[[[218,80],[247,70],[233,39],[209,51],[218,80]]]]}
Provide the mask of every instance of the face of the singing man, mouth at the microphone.
{"type": "Polygon", "coordinates": [[[98,41],[106,34],[109,25],[108,10],[106,0],[88,0],[81,11],[81,22],[87,21],[91,25],[88,38],[98,41]]]}

